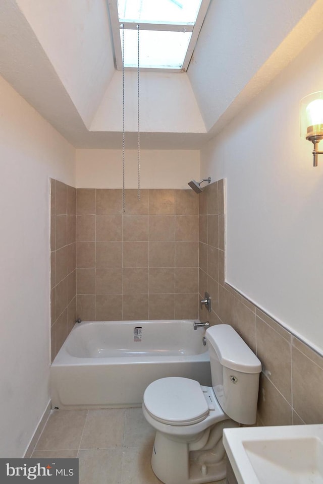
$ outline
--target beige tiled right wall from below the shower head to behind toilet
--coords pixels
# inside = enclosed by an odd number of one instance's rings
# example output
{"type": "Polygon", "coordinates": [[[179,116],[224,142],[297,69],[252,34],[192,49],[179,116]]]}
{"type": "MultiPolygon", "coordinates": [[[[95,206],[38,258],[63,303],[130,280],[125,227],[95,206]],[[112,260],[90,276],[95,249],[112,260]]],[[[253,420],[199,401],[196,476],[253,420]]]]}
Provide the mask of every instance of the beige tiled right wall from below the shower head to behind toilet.
{"type": "Polygon", "coordinates": [[[323,422],[323,357],[225,283],[224,180],[199,195],[201,321],[232,325],[262,363],[258,425],[323,422]],[[218,227],[218,232],[217,232],[218,227]]]}

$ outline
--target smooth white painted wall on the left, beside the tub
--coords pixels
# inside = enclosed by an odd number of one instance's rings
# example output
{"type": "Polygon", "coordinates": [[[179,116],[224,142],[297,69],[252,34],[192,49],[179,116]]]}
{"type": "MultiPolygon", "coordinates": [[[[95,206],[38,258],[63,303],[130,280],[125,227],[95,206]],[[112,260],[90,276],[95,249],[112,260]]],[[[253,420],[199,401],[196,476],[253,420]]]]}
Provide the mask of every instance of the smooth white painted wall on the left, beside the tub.
{"type": "Polygon", "coordinates": [[[0,78],[0,457],[22,457],[49,401],[49,177],[74,148],[0,78]]]}

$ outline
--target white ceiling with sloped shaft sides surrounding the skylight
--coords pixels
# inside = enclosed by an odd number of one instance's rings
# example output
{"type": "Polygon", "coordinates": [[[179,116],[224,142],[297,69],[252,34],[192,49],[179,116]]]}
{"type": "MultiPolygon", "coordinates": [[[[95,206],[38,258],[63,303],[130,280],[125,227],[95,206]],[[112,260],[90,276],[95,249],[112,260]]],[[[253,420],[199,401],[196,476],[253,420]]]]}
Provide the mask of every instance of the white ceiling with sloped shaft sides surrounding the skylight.
{"type": "MultiPolygon", "coordinates": [[[[105,0],[0,0],[0,73],[77,148],[118,149],[122,79],[105,0]]],[[[142,73],[141,147],[198,149],[322,28],[323,0],[211,0],[187,73],[142,73]]],[[[126,72],[126,143],[137,146],[126,72]]]]}

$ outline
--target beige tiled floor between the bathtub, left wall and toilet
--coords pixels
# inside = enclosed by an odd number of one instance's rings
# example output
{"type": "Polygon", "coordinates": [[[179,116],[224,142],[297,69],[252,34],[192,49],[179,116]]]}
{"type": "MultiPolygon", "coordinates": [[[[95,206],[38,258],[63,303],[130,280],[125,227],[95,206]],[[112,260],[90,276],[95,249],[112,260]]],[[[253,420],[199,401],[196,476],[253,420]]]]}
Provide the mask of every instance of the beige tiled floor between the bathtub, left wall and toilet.
{"type": "Polygon", "coordinates": [[[79,484],[160,484],[154,436],[141,408],[53,410],[31,457],[78,457],[79,484]]]}

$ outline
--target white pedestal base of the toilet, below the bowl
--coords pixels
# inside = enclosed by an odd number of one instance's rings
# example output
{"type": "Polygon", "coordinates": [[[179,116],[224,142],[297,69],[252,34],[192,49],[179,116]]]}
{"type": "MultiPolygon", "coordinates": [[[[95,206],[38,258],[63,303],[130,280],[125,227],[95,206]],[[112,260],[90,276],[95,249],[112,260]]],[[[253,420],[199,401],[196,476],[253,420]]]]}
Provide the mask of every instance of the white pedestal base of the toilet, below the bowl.
{"type": "MultiPolygon", "coordinates": [[[[226,423],[228,425],[228,421],[226,423]]],[[[202,448],[194,451],[190,451],[190,446],[197,445],[198,448],[198,442],[187,443],[173,439],[173,436],[156,432],[151,467],[159,480],[165,484],[203,484],[226,477],[227,459],[222,438],[216,449],[202,448]],[[220,460],[214,459],[216,455],[221,456],[220,460]]]]}

